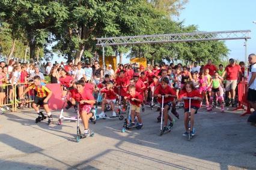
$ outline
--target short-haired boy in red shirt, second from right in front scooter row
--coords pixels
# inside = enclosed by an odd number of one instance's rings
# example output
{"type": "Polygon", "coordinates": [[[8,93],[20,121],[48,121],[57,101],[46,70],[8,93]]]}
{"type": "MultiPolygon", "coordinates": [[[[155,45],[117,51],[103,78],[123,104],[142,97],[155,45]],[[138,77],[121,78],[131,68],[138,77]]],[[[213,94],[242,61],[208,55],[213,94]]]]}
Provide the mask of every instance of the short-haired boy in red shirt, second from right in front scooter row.
{"type": "MultiPolygon", "coordinates": [[[[175,105],[171,105],[171,102],[175,102],[175,99],[177,98],[175,91],[168,86],[169,79],[167,77],[162,78],[161,80],[161,86],[158,86],[156,90],[154,90],[154,97],[157,97],[158,102],[162,106],[162,95],[165,95],[165,98],[163,98],[163,116],[165,120],[165,126],[163,128],[163,131],[169,130],[169,126],[173,126],[175,120],[172,119],[171,116],[168,114],[168,110],[172,107],[172,114],[174,114],[175,105]],[[169,126],[167,126],[168,119],[171,120],[171,123],[169,126]]],[[[177,118],[179,117],[178,113],[175,112],[174,116],[177,118]]],[[[157,117],[157,119],[159,119],[157,117]]],[[[179,118],[178,118],[179,119],[179,118]]]]}

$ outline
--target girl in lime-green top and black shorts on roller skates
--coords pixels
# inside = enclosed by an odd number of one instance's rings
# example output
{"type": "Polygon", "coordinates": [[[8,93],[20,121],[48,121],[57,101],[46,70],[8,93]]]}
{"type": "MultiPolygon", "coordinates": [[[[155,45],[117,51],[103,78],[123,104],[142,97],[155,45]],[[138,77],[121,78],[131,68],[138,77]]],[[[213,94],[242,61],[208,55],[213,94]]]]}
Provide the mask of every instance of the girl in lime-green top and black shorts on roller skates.
{"type": "Polygon", "coordinates": [[[215,72],[214,77],[212,78],[212,81],[210,82],[210,84],[212,86],[212,93],[210,96],[210,105],[207,108],[207,111],[212,111],[213,97],[215,96],[215,93],[216,93],[216,95],[218,96],[219,104],[221,105],[221,111],[224,112],[224,107],[222,104],[223,97],[220,96],[219,85],[221,85],[221,87],[224,87],[224,86],[222,84],[221,79],[219,78],[219,72],[217,72],[217,71],[215,72]]]}

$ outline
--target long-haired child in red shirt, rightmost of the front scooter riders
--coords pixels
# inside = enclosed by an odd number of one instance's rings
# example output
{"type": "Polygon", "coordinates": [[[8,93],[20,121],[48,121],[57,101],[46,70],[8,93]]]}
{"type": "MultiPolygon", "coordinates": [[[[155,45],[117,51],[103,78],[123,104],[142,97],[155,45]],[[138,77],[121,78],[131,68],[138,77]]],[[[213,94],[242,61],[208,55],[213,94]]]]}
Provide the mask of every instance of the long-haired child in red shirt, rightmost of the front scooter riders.
{"type": "MultiPolygon", "coordinates": [[[[180,95],[178,95],[178,101],[181,102],[184,100],[184,125],[186,132],[183,133],[183,136],[187,136],[189,133],[189,100],[190,102],[190,129],[194,127],[194,114],[197,114],[197,110],[200,108],[201,101],[203,101],[202,96],[199,91],[195,89],[193,81],[186,81],[184,86],[181,88],[180,95]]],[[[193,130],[190,131],[191,135],[194,136],[195,133],[193,130]]]]}

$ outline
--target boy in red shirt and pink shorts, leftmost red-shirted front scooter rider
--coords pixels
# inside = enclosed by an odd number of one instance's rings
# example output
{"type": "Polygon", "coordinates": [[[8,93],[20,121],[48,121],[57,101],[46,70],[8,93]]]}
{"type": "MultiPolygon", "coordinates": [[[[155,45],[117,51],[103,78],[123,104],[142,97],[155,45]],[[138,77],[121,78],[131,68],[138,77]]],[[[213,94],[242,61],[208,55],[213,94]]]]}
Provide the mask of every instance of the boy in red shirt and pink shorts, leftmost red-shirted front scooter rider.
{"type": "Polygon", "coordinates": [[[76,90],[74,90],[72,93],[71,102],[73,105],[75,105],[76,102],[80,102],[79,114],[81,116],[82,122],[84,123],[84,135],[89,136],[90,130],[88,129],[88,120],[90,118],[93,121],[96,120],[96,116],[94,116],[95,110],[91,111],[95,101],[92,93],[90,93],[88,90],[85,90],[85,82],[83,80],[76,81],[76,90]]]}

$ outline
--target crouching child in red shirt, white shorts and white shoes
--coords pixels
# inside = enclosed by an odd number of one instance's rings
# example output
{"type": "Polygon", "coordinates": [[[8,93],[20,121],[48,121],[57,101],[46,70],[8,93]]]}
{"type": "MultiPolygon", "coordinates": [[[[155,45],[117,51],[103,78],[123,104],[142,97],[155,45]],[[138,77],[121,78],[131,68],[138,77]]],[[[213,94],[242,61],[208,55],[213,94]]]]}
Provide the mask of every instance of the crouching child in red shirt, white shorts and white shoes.
{"type": "Polygon", "coordinates": [[[102,101],[102,113],[99,114],[99,117],[105,116],[105,105],[110,104],[111,110],[113,111],[112,117],[116,117],[117,113],[115,113],[115,102],[118,97],[117,93],[113,90],[113,84],[111,82],[106,83],[106,89],[100,90],[101,93],[105,93],[105,99],[102,101]]]}

